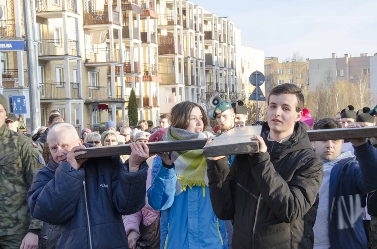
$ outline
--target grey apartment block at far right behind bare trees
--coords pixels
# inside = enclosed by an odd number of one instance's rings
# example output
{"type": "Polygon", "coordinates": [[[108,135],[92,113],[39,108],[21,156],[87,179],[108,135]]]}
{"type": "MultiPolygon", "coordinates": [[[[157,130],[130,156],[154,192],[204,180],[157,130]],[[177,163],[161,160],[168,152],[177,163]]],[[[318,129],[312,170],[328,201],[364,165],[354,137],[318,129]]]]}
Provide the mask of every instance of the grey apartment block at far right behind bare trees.
{"type": "Polygon", "coordinates": [[[333,83],[339,81],[356,83],[361,79],[368,83],[375,94],[377,93],[377,53],[373,56],[362,53],[358,57],[353,57],[351,54],[337,57],[333,53],[331,58],[309,60],[310,90],[316,90],[326,78],[333,83]]]}

